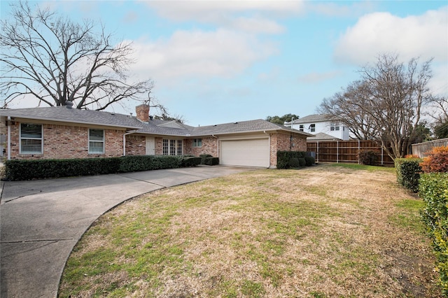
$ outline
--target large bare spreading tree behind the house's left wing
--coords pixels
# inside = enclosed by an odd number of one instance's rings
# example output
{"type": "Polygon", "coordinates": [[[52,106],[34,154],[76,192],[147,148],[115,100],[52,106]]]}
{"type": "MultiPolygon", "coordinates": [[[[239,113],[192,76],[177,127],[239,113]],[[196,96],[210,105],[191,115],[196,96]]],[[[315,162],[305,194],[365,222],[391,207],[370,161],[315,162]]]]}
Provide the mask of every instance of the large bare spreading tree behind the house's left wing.
{"type": "Polygon", "coordinates": [[[92,20],[71,22],[48,8],[15,2],[1,20],[0,95],[3,107],[31,94],[40,104],[103,110],[123,99],[139,99],[152,80],[129,82],[130,43],[114,44],[92,20]]]}

